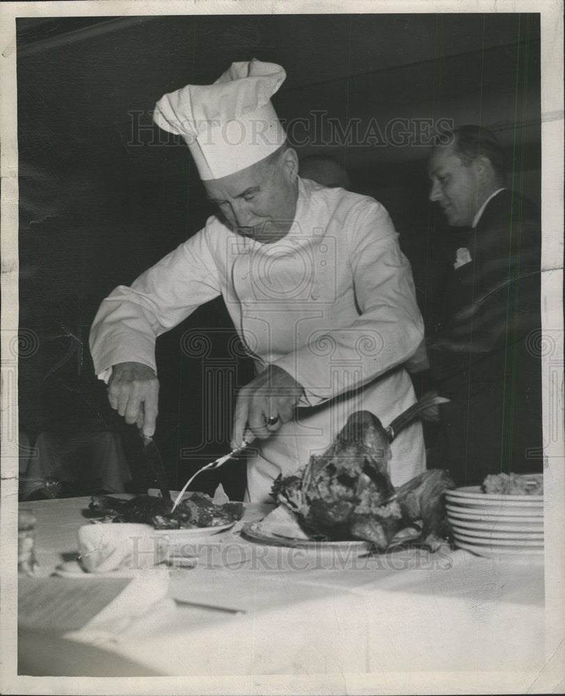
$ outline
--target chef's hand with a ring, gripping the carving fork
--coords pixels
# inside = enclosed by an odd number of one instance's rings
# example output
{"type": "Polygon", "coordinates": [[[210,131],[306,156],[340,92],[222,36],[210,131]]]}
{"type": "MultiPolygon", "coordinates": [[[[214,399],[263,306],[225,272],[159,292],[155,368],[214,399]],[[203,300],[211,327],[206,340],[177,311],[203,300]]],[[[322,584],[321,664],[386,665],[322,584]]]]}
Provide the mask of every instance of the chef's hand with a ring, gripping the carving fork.
{"type": "Polygon", "coordinates": [[[246,429],[255,437],[265,439],[283,423],[292,420],[294,406],[303,393],[301,385],[282,367],[269,365],[264,372],[246,384],[237,396],[232,448],[244,443],[246,429]]]}

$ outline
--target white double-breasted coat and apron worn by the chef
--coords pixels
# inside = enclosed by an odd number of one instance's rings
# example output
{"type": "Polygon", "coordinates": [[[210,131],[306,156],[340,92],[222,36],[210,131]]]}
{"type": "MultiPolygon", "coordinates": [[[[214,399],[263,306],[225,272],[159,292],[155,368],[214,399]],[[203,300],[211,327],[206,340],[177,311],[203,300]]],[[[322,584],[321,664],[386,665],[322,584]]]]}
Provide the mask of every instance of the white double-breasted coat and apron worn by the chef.
{"type": "MultiPolygon", "coordinates": [[[[401,365],[422,341],[422,317],[397,232],[372,198],[299,179],[292,227],[273,244],[212,216],[102,302],[90,333],[97,374],[107,381],[112,365],[127,361],[157,371],[157,336],[220,294],[257,372],[279,365],[304,388],[296,420],[250,448],[250,500],[269,499],[273,479],[325,450],[353,411],[388,425],[415,402],[401,365]]],[[[392,443],[392,482],[424,468],[415,422],[392,443]]]]}

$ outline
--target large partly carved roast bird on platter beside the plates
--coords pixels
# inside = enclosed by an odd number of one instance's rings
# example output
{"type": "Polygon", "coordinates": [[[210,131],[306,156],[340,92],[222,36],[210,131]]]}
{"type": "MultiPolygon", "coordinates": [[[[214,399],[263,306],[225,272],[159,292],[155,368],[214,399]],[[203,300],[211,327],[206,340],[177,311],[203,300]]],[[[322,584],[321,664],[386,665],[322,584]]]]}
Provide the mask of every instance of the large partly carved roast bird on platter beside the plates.
{"type": "MultiPolygon", "coordinates": [[[[415,414],[417,409],[411,418],[415,414]]],[[[314,539],[365,539],[382,551],[398,532],[420,521],[417,540],[436,546],[447,532],[442,494],[454,482],[435,469],[395,491],[388,473],[393,437],[394,431],[374,414],[357,411],[331,447],[310,458],[303,473],[276,480],[273,496],[296,512],[314,539]]]]}

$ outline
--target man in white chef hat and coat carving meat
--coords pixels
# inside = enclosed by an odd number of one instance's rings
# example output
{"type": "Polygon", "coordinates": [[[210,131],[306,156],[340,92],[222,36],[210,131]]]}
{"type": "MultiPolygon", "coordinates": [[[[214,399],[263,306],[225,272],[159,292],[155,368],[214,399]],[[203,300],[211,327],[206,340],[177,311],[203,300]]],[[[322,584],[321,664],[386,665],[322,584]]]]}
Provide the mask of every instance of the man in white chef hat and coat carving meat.
{"type": "MultiPolygon", "coordinates": [[[[410,264],[372,198],[298,175],[271,104],[283,68],[233,63],[164,95],[154,120],[189,146],[216,215],[102,302],[90,333],[111,406],[154,432],[157,336],[222,295],[256,377],[237,395],[232,446],[251,439],[247,496],[323,452],[361,409],[383,425],[415,402],[403,363],[423,335],[410,264]]],[[[395,485],[425,468],[419,422],[392,443],[395,485]]]]}

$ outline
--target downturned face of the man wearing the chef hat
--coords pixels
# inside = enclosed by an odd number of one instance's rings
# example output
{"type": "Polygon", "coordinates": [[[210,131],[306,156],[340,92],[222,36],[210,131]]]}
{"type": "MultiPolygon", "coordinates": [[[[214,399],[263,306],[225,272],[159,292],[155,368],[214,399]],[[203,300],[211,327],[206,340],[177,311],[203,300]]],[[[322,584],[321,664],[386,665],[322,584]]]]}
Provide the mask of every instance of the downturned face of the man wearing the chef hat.
{"type": "Polygon", "coordinates": [[[292,226],[298,198],[298,158],[292,148],[203,183],[208,198],[239,235],[272,244],[292,226]]]}

